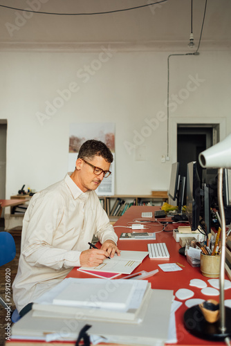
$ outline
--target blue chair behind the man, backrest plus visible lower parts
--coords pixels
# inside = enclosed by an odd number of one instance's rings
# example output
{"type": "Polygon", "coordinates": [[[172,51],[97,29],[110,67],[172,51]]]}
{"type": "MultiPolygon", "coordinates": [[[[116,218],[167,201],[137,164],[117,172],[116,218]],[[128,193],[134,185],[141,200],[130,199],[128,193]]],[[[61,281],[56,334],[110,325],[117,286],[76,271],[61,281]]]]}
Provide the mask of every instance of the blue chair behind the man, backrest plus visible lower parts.
{"type": "MultiPolygon", "coordinates": [[[[16,247],[15,247],[15,239],[8,232],[0,232],[0,266],[7,264],[14,260],[16,255],[16,247]]],[[[0,296],[0,304],[4,307],[4,309],[9,309],[8,304],[3,300],[0,296]]],[[[12,322],[17,322],[21,316],[17,309],[12,311],[10,308],[11,320],[12,322]]]]}

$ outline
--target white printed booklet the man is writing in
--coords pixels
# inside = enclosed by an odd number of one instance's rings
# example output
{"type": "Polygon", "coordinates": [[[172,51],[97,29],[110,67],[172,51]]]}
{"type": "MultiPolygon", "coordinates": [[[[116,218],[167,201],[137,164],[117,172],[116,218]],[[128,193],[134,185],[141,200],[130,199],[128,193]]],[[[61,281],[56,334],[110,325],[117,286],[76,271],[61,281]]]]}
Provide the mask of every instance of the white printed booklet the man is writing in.
{"type": "MultiPolygon", "coordinates": [[[[148,251],[125,251],[120,252],[120,256],[116,253],[111,259],[105,258],[102,264],[92,267],[91,271],[106,271],[109,273],[131,274],[134,269],[149,254],[148,251]]],[[[89,267],[80,267],[87,270],[89,267]]]]}

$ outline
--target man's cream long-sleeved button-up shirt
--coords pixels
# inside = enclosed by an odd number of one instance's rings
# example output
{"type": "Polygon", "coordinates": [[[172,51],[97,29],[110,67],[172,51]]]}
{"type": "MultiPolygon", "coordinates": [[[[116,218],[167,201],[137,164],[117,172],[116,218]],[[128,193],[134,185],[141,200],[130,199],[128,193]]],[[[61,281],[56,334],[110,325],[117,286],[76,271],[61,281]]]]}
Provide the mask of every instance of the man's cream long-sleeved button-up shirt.
{"type": "Polygon", "coordinates": [[[118,240],[95,191],[82,192],[66,175],[33,196],[24,216],[19,268],[12,284],[19,312],[80,266],[80,253],[89,248],[93,235],[101,244],[118,240]]]}

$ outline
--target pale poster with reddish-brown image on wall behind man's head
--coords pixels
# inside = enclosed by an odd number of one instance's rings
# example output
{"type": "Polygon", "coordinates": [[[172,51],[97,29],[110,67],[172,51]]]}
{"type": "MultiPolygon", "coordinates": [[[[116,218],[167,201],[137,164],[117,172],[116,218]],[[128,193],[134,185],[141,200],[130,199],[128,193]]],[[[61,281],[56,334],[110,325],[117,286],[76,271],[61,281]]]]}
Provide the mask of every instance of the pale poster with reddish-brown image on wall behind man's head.
{"type": "Polygon", "coordinates": [[[113,163],[110,166],[111,175],[104,178],[98,189],[95,190],[99,196],[113,195],[115,186],[115,124],[113,122],[76,122],[70,124],[68,172],[73,172],[75,169],[79,149],[89,139],[101,140],[113,154],[113,163]]]}

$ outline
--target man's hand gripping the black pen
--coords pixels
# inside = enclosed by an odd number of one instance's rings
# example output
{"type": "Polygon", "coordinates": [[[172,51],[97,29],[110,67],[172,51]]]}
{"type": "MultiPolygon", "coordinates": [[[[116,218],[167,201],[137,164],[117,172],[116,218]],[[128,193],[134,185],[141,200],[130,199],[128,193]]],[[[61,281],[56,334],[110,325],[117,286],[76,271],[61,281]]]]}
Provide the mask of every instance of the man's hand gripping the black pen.
{"type": "Polygon", "coordinates": [[[80,254],[80,266],[98,266],[108,257],[109,254],[104,249],[91,248],[82,251],[80,254]]]}

